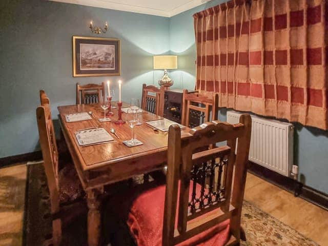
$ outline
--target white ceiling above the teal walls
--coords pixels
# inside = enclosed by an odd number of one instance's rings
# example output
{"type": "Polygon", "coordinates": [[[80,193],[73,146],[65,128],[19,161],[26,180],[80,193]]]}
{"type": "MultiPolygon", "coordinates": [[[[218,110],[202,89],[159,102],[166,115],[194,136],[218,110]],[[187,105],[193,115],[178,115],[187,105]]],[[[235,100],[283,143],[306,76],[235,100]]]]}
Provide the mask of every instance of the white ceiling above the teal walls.
{"type": "Polygon", "coordinates": [[[91,7],[171,17],[209,0],[49,0],[91,7]]]}

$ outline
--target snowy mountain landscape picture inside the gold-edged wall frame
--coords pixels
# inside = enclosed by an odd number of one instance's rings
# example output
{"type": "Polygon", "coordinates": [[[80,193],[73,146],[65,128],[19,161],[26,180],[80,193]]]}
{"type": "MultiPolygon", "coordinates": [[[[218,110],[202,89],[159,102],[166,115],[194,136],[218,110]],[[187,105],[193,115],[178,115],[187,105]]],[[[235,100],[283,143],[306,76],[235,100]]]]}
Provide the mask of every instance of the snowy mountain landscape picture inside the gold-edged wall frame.
{"type": "Polygon", "coordinates": [[[115,69],[115,46],[80,44],[80,70],[115,69]]]}

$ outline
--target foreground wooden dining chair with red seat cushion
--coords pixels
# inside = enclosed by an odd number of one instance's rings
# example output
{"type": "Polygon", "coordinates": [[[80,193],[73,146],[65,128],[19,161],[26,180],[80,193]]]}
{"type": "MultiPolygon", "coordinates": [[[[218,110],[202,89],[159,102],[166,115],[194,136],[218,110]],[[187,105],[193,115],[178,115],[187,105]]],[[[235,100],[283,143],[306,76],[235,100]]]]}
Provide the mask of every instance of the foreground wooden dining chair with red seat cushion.
{"type": "Polygon", "coordinates": [[[129,209],[127,224],[138,245],[239,243],[252,120],[243,114],[239,122],[207,122],[182,137],[170,126],[166,185],[141,192],[129,209]],[[224,140],[227,146],[194,153],[224,140]]]}

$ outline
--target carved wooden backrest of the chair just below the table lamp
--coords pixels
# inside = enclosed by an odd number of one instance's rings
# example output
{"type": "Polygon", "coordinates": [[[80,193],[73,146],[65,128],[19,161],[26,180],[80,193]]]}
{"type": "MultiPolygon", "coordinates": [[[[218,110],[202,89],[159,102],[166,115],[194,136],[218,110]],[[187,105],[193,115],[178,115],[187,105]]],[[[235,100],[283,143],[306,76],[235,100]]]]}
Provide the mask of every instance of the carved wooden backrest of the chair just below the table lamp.
{"type": "Polygon", "coordinates": [[[141,108],[148,112],[163,116],[165,87],[142,85],[141,108]],[[153,93],[149,94],[149,93],[153,93]]]}

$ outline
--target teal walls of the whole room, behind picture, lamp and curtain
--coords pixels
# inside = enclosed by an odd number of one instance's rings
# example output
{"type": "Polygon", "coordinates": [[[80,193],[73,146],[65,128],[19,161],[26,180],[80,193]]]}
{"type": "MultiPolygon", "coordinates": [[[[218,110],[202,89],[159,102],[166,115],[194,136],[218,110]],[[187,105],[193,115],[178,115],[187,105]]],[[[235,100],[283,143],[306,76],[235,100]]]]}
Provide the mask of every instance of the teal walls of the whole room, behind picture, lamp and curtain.
{"type": "MultiPolygon", "coordinates": [[[[75,85],[100,83],[104,77],[72,77],[72,36],[92,35],[92,19],[106,20],[101,37],[121,40],[123,99],[140,97],[141,84],[152,84],[161,71],[152,70],[154,54],[177,54],[179,69],[170,74],[173,87],[194,89],[195,12],[224,0],[210,1],[171,18],[43,0],[0,1],[0,158],[39,149],[35,109],[38,90],[58,105],[75,104],[75,85]]],[[[117,80],[117,77],[111,77],[117,80]]],[[[226,120],[225,109],[219,117],[226,120]]],[[[328,193],[328,132],[295,124],[294,162],[305,185],[328,193]]]]}

